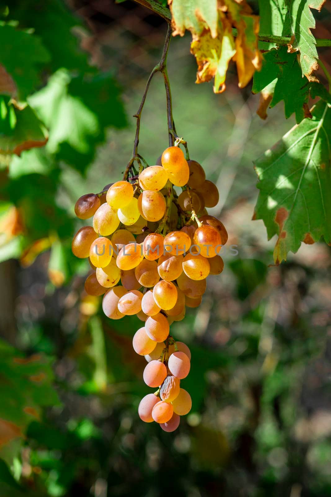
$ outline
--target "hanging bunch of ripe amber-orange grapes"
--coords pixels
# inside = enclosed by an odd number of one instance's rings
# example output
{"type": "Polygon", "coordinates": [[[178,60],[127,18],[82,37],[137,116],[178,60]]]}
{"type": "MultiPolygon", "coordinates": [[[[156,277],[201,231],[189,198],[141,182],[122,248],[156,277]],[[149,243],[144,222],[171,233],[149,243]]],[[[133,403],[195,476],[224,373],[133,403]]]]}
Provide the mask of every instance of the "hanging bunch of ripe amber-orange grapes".
{"type": "MultiPolygon", "coordinates": [[[[142,169],[142,167],[141,167],[142,169]]],[[[169,333],[186,307],[198,307],[206,277],[220,274],[218,254],[227,241],[223,224],[205,207],[218,202],[216,185],[179,147],[167,148],[156,166],[80,197],[75,213],[93,216],[92,226],[75,234],[72,251],[88,257],[93,272],[89,295],[103,296],[110,319],[136,314],[144,322],[133,336],[135,352],[145,356],[144,382],[157,391],[140,402],[138,414],[174,431],[188,414],[190,394],[180,387],[189,374],[191,352],[169,333]],[[177,195],[173,186],[181,187],[177,195]]]]}

